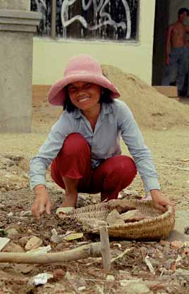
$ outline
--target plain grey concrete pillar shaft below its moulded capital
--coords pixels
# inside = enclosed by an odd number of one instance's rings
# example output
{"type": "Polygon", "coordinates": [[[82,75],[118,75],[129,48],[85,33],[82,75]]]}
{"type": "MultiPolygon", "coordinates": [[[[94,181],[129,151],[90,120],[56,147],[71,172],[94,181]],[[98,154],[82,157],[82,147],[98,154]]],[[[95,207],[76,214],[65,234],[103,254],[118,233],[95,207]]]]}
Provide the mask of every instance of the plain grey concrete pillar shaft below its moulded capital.
{"type": "Polygon", "coordinates": [[[30,132],[32,33],[0,31],[0,132],[30,132]]]}

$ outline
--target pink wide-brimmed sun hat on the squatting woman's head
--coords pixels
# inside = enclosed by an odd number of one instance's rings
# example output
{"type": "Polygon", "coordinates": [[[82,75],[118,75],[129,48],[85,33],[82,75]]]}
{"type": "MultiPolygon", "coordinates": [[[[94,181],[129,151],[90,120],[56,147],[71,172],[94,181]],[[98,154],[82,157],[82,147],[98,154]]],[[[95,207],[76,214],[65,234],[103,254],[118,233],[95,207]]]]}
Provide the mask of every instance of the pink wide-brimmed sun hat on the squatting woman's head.
{"type": "Polygon", "coordinates": [[[72,82],[92,82],[111,91],[112,99],[120,97],[120,92],[102,73],[99,63],[89,55],[78,55],[68,61],[63,79],[52,85],[48,93],[48,101],[53,105],[63,106],[66,99],[65,87],[72,82]]]}

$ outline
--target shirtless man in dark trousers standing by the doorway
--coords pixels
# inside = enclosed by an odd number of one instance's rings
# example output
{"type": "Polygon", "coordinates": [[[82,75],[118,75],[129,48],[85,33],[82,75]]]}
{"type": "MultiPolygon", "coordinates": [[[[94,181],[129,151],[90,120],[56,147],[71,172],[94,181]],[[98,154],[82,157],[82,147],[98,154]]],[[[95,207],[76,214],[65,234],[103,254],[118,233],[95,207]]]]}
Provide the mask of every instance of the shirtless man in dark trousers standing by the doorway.
{"type": "Polygon", "coordinates": [[[162,85],[170,85],[176,80],[178,95],[183,94],[185,74],[188,73],[188,47],[186,34],[189,27],[184,25],[189,16],[188,8],[181,8],[178,11],[178,20],[169,25],[166,35],[166,67],[162,85]]]}

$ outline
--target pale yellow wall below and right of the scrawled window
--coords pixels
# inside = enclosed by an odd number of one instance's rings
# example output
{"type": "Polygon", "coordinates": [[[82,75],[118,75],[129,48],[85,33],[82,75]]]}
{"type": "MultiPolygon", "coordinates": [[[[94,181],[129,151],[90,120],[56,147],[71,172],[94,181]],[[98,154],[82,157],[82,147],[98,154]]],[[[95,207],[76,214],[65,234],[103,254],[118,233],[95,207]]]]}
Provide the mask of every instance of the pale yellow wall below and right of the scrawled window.
{"type": "Polygon", "coordinates": [[[33,85],[61,79],[68,59],[90,54],[100,63],[118,66],[151,85],[155,0],[140,0],[139,42],[85,42],[34,38],[33,85]]]}

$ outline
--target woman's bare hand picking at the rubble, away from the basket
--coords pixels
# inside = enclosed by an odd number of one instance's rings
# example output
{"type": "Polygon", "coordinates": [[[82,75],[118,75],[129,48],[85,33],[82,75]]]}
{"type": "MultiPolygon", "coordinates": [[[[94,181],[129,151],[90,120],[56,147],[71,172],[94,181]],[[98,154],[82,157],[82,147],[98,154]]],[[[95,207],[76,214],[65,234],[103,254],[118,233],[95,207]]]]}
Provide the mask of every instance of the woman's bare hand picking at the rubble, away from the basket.
{"type": "Polygon", "coordinates": [[[51,213],[51,202],[49,194],[44,185],[37,185],[35,188],[35,202],[32,203],[32,215],[37,219],[44,214],[51,213]]]}

